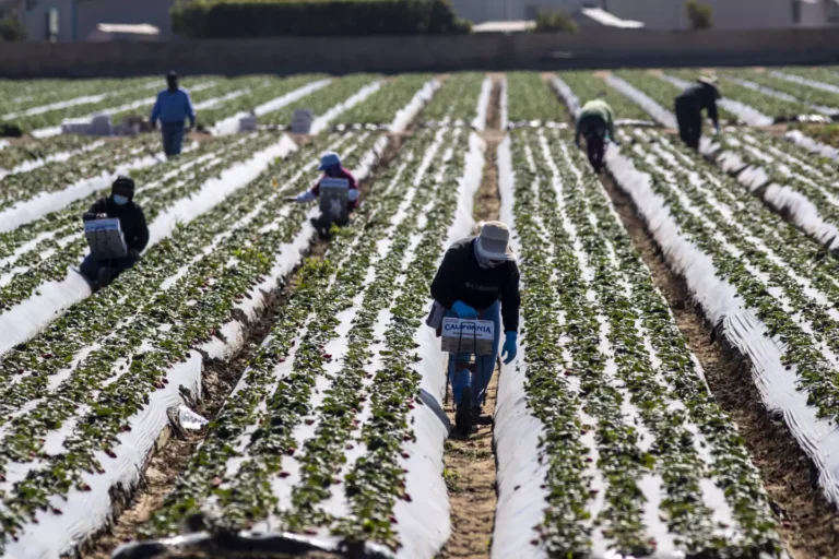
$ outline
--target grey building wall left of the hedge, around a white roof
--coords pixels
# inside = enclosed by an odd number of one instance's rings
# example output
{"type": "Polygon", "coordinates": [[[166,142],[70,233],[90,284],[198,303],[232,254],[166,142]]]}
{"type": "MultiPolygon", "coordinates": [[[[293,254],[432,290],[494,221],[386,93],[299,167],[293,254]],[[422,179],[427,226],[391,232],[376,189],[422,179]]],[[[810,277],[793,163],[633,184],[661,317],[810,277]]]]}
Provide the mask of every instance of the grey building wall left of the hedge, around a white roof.
{"type": "Polygon", "coordinates": [[[151,23],[161,38],[172,36],[169,9],[173,0],[78,0],[79,40],[87,38],[99,23],[151,23]]]}

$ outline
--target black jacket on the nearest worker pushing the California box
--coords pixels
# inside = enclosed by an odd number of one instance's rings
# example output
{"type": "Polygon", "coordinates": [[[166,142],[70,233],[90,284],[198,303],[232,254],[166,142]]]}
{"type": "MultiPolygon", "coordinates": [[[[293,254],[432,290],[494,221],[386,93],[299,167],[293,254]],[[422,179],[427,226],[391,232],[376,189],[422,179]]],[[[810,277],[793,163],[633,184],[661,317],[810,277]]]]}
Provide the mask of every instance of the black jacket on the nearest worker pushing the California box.
{"type": "Polygon", "coordinates": [[[507,261],[484,270],[475,257],[475,237],[459,240],[446,251],[440,269],[432,282],[432,297],[450,309],[454,301],[483,310],[501,300],[505,332],[519,330],[519,266],[507,261]]]}

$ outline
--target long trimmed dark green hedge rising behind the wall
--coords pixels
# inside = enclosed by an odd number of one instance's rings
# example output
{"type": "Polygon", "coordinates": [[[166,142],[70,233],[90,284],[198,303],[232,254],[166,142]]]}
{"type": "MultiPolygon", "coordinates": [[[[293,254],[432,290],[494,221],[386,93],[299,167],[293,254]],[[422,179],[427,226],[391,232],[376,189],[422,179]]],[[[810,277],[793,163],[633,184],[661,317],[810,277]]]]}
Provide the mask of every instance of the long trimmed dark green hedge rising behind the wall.
{"type": "Polygon", "coordinates": [[[449,0],[202,0],[172,10],[192,38],[469,33],[449,0]]]}

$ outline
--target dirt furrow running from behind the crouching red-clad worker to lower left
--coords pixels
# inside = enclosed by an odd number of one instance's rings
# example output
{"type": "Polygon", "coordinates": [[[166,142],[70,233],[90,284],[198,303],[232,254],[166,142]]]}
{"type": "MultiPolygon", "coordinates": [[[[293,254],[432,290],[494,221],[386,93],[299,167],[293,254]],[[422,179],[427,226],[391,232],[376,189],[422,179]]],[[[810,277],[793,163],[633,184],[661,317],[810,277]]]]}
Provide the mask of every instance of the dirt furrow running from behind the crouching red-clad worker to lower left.
{"type": "MultiPolygon", "coordinates": [[[[403,139],[393,138],[376,164],[377,168],[386,167],[399,153],[403,139]]],[[[375,170],[375,169],[374,169],[375,170]]],[[[359,182],[362,197],[366,197],[374,187],[375,180],[370,174],[359,182]]],[[[310,247],[309,259],[320,259],[326,252],[328,242],[318,238],[310,247]]],[[[248,329],[248,340],[243,352],[231,362],[204,360],[204,377],[202,391],[204,397],[193,406],[193,409],[206,419],[212,420],[221,411],[225,400],[241,378],[253,349],[268,336],[276,314],[295,290],[297,272],[295,271],[282,288],[276,289],[268,299],[268,310],[259,322],[248,329]]],[[[170,430],[169,430],[170,431],[170,430]]],[[[115,506],[116,523],[106,532],[81,546],[82,557],[92,559],[108,559],[116,547],[137,537],[140,527],[147,522],[154,512],[163,506],[166,496],[175,488],[180,473],[186,469],[190,457],[206,435],[201,431],[187,431],[180,437],[165,433],[157,442],[157,452],[151,459],[142,475],[140,487],[130,501],[115,506]]],[[[176,552],[170,557],[193,557],[176,552]]],[[[201,557],[200,554],[194,557],[201,557]]]]}

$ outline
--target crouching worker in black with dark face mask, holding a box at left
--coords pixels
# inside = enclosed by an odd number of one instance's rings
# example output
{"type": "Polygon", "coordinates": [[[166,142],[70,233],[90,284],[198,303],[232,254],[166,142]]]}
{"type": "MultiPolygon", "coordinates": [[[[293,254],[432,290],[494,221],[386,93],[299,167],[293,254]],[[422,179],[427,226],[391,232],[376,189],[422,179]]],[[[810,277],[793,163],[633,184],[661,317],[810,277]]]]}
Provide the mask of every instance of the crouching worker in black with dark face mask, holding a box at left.
{"type": "Polygon", "coordinates": [[[119,176],[110,187],[110,195],[98,199],[82,216],[85,222],[108,217],[119,218],[119,227],[128,248],[128,255],[120,259],[99,260],[93,254],[87,254],[79,270],[94,287],[105,287],[114,277],[133,266],[140,252],[149,243],[145,214],[133,198],[133,179],[119,176]]]}

